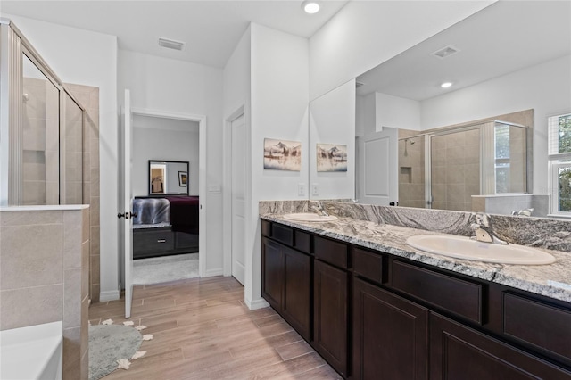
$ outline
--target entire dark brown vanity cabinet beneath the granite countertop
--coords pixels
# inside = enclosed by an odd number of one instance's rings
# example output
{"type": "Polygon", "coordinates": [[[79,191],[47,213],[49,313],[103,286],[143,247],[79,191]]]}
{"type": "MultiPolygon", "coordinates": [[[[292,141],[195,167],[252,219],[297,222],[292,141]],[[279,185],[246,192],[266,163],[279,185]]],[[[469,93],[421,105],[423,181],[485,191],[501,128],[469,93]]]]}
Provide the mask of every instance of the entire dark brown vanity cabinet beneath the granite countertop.
{"type": "Polygon", "coordinates": [[[567,302],[277,223],[262,234],[264,298],[346,378],[571,380],[567,302]]]}

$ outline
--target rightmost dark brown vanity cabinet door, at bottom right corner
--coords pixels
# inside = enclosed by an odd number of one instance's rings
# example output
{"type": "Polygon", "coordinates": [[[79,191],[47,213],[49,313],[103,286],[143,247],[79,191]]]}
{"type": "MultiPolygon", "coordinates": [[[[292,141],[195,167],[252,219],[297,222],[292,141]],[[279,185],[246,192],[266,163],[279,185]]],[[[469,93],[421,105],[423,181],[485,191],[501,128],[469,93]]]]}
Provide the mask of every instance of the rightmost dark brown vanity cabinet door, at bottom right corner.
{"type": "Polygon", "coordinates": [[[433,379],[569,379],[571,373],[451,319],[430,316],[433,379]]]}

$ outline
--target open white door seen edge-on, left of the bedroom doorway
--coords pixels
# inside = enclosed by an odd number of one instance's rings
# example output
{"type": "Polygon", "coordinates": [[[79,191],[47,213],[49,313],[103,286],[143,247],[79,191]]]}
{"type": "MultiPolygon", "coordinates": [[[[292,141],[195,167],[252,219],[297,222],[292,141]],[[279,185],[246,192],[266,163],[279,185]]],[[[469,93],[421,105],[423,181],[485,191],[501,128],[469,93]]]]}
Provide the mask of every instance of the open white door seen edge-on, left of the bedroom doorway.
{"type": "Polygon", "coordinates": [[[122,257],[124,258],[124,281],[125,281],[125,318],[131,317],[131,303],[133,301],[133,218],[131,211],[133,210],[133,191],[131,187],[131,144],[132,144],[132,115],[131,115],[131,95],[129,90],[125,90],[125,106],[123,107],[123,118],[121,128],[121,140],[123,154],[121,157],[122,171],[122,202],[120,205],[120,218],[122,226],[122,257]]]}

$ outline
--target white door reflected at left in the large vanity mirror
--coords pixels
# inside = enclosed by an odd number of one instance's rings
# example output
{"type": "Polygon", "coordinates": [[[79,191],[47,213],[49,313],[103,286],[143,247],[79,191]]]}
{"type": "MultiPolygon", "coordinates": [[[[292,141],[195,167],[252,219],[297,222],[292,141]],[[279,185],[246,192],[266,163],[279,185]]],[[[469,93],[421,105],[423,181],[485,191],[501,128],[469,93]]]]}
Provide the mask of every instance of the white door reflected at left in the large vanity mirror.
{"type": "Polygon", "coordinates": [[[398,204],[398,129],[357,137],[357,150],[359,202],[398,204]]]}

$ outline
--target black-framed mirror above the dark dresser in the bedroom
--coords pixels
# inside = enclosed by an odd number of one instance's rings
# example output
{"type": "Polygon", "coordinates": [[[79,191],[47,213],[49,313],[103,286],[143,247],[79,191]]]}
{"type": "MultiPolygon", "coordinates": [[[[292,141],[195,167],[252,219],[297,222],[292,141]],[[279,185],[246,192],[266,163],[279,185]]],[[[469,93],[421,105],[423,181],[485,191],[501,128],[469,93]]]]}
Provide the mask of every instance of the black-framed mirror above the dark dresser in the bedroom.
{"type": "Polygon", "coordinates": [[[149,160],[149,196],[188,195],[188,161],[149,160]]]}

